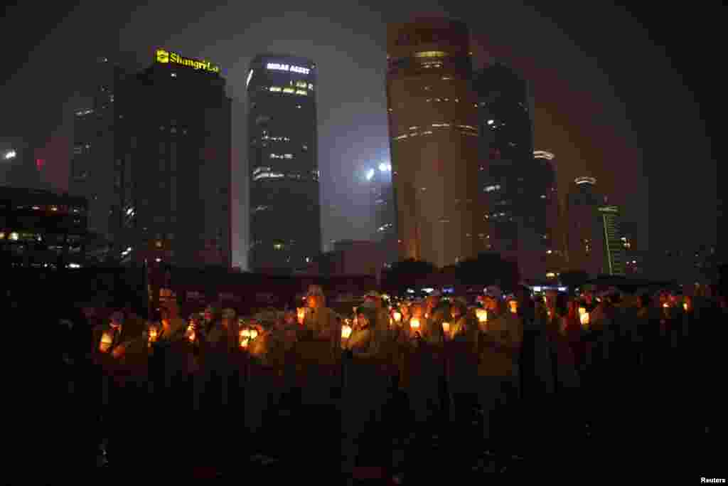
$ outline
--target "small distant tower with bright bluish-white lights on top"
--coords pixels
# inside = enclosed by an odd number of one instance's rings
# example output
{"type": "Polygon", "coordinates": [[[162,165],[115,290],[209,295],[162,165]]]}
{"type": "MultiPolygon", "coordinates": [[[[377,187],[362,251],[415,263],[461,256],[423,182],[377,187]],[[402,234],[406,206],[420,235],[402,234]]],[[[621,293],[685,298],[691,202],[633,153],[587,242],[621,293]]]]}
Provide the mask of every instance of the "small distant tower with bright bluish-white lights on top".
{"type": "Polygon", "coordinates": [[[379,242],[384,262],[397,261],[397,228],[395,227],[395,204],[392,192],[392,165],[381,162],[369,168],[366,179],[370,184],[371,203],[374,216],[374,238],[379,242]]]}

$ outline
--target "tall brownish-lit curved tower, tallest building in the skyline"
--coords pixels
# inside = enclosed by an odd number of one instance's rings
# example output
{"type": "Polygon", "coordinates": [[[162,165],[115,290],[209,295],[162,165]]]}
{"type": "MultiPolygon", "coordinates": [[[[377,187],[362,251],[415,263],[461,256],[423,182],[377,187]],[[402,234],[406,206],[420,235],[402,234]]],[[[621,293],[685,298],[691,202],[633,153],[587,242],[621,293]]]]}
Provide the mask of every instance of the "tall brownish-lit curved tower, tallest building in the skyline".
{"type": "Polygon", "coordinates": [[[485,249],[467,26],[387,26],[387,106],[400,256],[455,264],[485,249]]]}

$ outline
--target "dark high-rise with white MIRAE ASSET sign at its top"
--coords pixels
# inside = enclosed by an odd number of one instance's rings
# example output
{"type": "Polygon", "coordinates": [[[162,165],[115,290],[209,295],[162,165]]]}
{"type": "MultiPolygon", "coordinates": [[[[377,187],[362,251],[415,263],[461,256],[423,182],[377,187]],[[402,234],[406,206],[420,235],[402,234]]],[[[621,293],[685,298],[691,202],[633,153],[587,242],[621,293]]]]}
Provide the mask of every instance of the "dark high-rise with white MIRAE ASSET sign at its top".
{"type": "Polygon", "coordinates": [[[289,272],[321,251],[316,65],[290,55],[250,63],[251,270],[289,272]]]}

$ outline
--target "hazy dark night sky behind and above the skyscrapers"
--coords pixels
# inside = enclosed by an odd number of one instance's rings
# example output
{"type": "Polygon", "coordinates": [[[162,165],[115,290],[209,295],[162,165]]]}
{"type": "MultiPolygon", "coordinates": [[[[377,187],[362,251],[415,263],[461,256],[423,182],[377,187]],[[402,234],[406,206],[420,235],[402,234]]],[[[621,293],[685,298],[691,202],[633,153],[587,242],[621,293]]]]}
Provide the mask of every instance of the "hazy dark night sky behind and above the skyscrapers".
{"type": "Polygon", "coordinates": [[[718,178],[703,120],[720,99],[711,99],[708,77],[723,58],[717,5],[628,12],[606,1],[25,3],[0,20],[0,136],[41,140],[45,176],[58,189],[68,186],[85,63],[122,50],[148,65],[159,46],[223,68],[234,100],[234,262],[248,232],[250,59],[288,52],[317,63],[323,240],[368,239],[365,168],[389,159],[385,25],[416,13],[467,20],[476,66],[502,60],[531,81],[536,148],[555,153],[562,197],[575,176],[595,176],[625,220],[644,223],[638,246],[716,243],[718,178]]]}

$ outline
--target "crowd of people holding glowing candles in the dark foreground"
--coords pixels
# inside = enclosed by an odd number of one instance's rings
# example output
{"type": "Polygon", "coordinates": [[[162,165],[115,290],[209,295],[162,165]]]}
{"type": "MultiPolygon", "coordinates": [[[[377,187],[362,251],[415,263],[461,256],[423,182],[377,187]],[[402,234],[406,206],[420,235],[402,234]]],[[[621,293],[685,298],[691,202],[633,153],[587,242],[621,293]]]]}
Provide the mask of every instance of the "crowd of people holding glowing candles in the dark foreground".
{"type": "Polygon", "coordinates": [[[103,319],[74,307],[60,321],[67,396],[79,420],[98,421],[92,436],[76,434],[82,449],[67,463],[127,467],[140,441],[167,462],[185,457],[185,441],[210,452],[245,436],[247,450],[266,443],[268,455],[290,452],[342,477],[369,454],[368,466],[401,482],[412,463],[432,472],[411,451],[439,438],[450,441],[448,470],[471,471],[482,451],[569,463],[579,451],[556,444],[593,439],[637,462],[644,437],[719,433],[718,402],[701,399],[722,388],[727,307],[711,287],[506,295],[491,286],[474,301],[437,291],[360,300],[336,312],[311,286],[301,307],[249,317],[209,305],[184,319],[174,299],[149,319],[129,305],[103,319]],[[303,428],[272,436],[271,409],[303,428]],[[364,450],[364,436],[379,450],[364,450]],[[409,457],[387,456],[392,437],[410,444],[409,457]]]}

